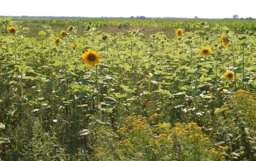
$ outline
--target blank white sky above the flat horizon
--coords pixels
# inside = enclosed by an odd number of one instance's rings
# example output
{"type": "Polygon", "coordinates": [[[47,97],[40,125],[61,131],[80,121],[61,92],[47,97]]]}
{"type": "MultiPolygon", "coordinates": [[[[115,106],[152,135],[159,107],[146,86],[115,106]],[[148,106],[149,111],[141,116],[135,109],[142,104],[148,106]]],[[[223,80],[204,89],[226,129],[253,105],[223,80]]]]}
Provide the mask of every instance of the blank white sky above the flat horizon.
{"type": "Polygon", "coordinates": [[[256,18],[256,0],[0,0],[0,15],[256,18]]]}

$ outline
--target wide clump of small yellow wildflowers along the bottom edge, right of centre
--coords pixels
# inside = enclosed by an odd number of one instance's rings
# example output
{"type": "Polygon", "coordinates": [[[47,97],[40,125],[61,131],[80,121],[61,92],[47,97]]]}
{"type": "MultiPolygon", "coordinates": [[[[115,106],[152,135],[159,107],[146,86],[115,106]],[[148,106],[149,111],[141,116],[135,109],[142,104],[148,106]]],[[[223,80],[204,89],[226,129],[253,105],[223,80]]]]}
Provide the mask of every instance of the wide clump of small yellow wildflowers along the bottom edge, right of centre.
{"type": "Polygon", "coordinates": [[[211,148],[209,138],[203,134],[202,127],[197,123],[176,123],[174,127],[169,123],[150,126],[149,121],[157,117],[161,117],[161,114],[154,113],[148,121],[142,116],[128,116],[125,125],[117,133],[105,126],[99,128],[99,144],[95,149],[94,159],[142,159],[146,155],[150,156],[148,153],[152,153],[159,160],[162,156],[169,156],[167,160],[194,160],[193,156],[197,154],[200,154],[196,158],[198,160],[225,157],[227,147],[211,148]],[[180,147],[179,154],[176,153],[176,147],[180,147]]]}

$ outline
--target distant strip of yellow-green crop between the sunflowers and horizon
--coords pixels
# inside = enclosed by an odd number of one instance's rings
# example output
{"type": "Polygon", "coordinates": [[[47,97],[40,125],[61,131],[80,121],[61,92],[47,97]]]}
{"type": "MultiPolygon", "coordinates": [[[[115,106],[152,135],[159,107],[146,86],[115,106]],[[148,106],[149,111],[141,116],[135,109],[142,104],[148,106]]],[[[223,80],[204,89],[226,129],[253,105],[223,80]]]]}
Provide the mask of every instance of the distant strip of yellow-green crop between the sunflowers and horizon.
{"type": "MultiPolygon", "coordinates": [[[[105,27],[144,27],[144,28],[159,28],[161,30],[168,30],[173,28],[183,28],[186,30],[200,29],[202,26],[197,19],[31,19],[18,20],[17,23],[22,24],[45,24],[45,25],[86,25],[96,28],[105,27]]],[[[247,30],[256,31],[256,20],[205,20],[204,27],[214,27],[216,25],[227,26],[236,32],[246,32],[247,30]]]]}

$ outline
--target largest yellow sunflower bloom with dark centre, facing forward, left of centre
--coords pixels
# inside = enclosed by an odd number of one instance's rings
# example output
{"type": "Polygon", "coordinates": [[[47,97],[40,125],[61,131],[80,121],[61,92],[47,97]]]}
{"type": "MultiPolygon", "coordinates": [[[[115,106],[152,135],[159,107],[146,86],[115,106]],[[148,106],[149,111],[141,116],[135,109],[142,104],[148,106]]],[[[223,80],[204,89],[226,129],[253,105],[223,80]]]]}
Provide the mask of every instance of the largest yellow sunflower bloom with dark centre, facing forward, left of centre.
{"type": "Polygon", "coordinates": [[[89,66],[97,65],[100,61],[100,58],[100,55],[94,50],[88,50],[82,54],[83,61],[89,66]]]}

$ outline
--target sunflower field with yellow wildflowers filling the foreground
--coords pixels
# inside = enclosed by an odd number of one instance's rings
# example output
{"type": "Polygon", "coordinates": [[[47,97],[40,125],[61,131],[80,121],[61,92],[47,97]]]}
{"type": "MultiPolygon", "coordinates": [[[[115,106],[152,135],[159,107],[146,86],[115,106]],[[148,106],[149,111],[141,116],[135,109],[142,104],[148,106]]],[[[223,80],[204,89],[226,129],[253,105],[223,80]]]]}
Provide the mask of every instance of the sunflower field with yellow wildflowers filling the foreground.
{"type": "Polygon", "coordinates": [[[256,23],[193,23],[31,37],[2,21],[0,161],[254,161],[256,23]]]}

